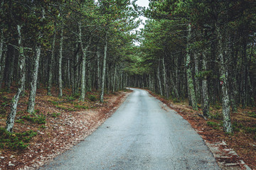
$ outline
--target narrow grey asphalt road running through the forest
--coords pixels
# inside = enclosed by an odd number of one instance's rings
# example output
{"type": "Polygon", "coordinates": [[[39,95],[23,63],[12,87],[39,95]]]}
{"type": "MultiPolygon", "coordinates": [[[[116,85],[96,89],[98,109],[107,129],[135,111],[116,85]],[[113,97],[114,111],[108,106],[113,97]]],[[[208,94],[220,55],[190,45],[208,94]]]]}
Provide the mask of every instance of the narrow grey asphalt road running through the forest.
{"type": "Polygon", "coordinates": [[[220,169],[186,120],[133,90],[92,135],[41,169],[220,169]]]}

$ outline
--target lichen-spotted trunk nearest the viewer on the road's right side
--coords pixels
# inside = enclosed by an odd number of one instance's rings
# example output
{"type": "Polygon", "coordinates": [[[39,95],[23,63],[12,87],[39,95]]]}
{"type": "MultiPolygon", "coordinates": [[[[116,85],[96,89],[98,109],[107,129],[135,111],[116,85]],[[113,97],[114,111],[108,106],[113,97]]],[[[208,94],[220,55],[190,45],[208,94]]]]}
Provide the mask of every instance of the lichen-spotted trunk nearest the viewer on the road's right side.
{"type": "Polygon", "coordinates": [[[223,113],[223,128],[225,132],[233,132],[233,128],[230,120],[230,99],[228,95],[228,69],[224,62],[223,55],[223,38],[220,33],[220,28],[216,25],[216,35],[218,42],[218,60],[220,68],[220,81],[222,81],[221,91],[222,91],[222,113],[223,113]]]}

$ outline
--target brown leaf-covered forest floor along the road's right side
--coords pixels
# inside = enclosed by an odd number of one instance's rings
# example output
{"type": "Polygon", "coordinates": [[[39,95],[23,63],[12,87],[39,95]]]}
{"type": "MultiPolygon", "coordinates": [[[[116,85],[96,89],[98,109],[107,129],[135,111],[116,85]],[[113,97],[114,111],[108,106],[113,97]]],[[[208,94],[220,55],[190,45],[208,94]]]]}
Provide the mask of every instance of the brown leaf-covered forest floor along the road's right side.
{"type": "Polygon", "coordinates": [[[206,120],[200,105],[198,111],[194,111],[188,101],[174,102],[149,93],[188,120],[210,147],[222,169],[237,169],[238,166],[246,169],[244,164],[256,169],[256,108],[238,108],[237,112],[231,113],[234,132],[227,134],[223,132],[220,103],[210,106],[211,118],[206,120]]]}

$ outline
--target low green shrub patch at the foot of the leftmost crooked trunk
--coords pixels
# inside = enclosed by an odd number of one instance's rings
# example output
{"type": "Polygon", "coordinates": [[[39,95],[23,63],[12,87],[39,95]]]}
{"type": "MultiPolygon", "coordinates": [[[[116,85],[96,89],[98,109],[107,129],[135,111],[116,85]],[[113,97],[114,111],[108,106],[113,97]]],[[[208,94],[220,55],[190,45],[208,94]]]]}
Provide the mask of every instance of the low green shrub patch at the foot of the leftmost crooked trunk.
{"type": "Polygon", "coordinates": [[[15,133],[8,132],[4,128],[0,128],[0,147],[3,149],[23,150],[28,147],[31,139],[37,135],[37,132],[29,130],[27,132],[15,133]]]}

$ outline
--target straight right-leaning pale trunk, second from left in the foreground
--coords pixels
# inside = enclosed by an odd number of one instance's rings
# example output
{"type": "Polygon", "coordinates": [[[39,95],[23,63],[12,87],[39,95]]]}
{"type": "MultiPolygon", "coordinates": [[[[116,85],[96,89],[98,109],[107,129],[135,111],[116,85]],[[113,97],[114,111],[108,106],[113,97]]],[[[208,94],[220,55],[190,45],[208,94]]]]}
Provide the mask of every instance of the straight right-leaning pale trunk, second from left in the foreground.
{"type": "Polygon", "coordinates": [[[36,45],[35,59],[33,63],[33,72],[31,73],[31,89],[28,98],[28,113],[33,113],[35,108],[35,99],[36,99],[36,84],[38,79],[38,67],[39,67],[39,59],[41,54],[41,46],[36,45]]]}

